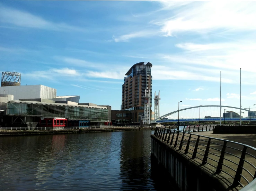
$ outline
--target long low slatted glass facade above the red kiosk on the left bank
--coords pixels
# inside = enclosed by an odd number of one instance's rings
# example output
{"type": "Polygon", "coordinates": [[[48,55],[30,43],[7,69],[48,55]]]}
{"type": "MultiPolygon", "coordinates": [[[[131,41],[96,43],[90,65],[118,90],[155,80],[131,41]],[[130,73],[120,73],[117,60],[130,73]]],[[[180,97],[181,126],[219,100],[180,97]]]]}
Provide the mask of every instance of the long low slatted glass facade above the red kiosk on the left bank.
{"type": "Polygon", "coordinates": [[[67,118],[69,120],[108,121],[108,108],[62,103],[41,103],[34,101],[8,101],[7,115],[44,118],[67,118]]]}

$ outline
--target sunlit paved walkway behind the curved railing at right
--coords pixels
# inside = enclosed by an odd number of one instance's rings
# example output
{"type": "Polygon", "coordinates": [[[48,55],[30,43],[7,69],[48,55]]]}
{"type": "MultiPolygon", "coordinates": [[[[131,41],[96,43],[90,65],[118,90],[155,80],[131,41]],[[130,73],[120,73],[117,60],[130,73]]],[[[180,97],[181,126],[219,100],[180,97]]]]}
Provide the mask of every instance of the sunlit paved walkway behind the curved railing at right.
{"type": "MultiPolygon", "coordinates": [[[[256,134],[213,134],[213,131],[205,131],[205,132],[194,132],[193,134],[198,134],[198,135],[204,135],[204,136],[207,136],[207,137],[212,137],[212,138],[218,138],[218,139],[224,139],[224,140],[229,140],[229,141],[235,141],[235,142],[238,142],[238,143],[242,143],[242,144],[247,144],[247,145],[250,145],[252,147],[255,147],[256,148],[256,134]]],[[[181,136],[179,136],[181,137],[181,136]]],[[[193,135],[192,137],[194,138],[197,138],[197,136],[193,135]]],[[[180,139],[180,138],[179,138],[180,139]]],[[[187,138],[186,138],[187,139],[187,138]]],[[[196,142],[196,139],[191,139],[192,141],[196,142]]],[[[203,138],[201,137],[200,138],[200,141],[199,143],[202,144],[202,145],[199,145],[198,146],[198,149],[197,152],[202,154],[197,154],[197,157],[198,158],[201,158],[203,159],[203,155],[205,153],[205,146],[207,144],[207,142],[205,141],[208,141],[207,138],[203,138]],[[200,150],[202,149],[202,150],[200,150]]],[[[185,141],[187,142],[187,141],[185,141]]],[[[222,146],[221,145],[216,145],[216,144],[213,144],[213,143],[217,143],[217,144],[221,144],[223,145],[223,141],[218,141],[218,140],[211,140],[211,145],[210,147],[214,148],[214,149],[219,149],[219,150],[222,150],[222,146]]],[[[195,145],[195,143],[192,143],[193,145],[195,145]]],[[[186,144],[184,144],[185,146],[186,144]]],[[[232,147],[232,148],[236,148],[236,149],[239,149],[242,151],[243,149],[243,146],[242,145],[238,145],[238,144],[234,144],[234,143],[227,143],[227,146],[228,147],[232,147]]],[[[194,147],[189,147],[190,149],[194,150],[194,147]]],[[[185,147],[183,147],[183,149],[185,149],[185,147]]],[[[209,152],[213,153],[213,154],[210,154],[208,155],[208,157],[210,157],[211,159],[208,159],[207,162],[209,162],[210,164],[214,165],[215,167],[218,166],[218,162],[219,161],[219,157],[215,156],[214,154],[220,156],[220,151],[218,150],[214,150],[214,149],[209,149],[209,152]],[[215,160],[215,161],[214,161],[215,160]]],[[[192,150],[189,150],[189,152],[192,154],[193,151],[192,150]]],[[[226,152],[228,153],[231,153],[231,154],[234,154],[234,155],[237,155],[238,157],[241,156],[241,151],[238,151],[238,150],[235,150],[235,149],[231,149],[231,148],[226,148],[226,152]]],[[[256,156],[256,152],[251,150],[251,149],[247,149],[247,152],[256,156]]],[[[224,155],[224,158],[228,159],[228,160],[231,160],[235,163],[239,163],[239,158],[233,156],[233,155],[230,155],[230,154],[227,154],[225,153],[224,155]]],[[[224,171],[226,171],[227,173],[229,173],[230,175],[232,175],[233,177],[235,177],[235,174],[236,174],[236,170],[237,170],[237,165],[228,161],[228,160],[224,160],[223,161],[223,167],[222,169],[224,171]],[[228,165],[229,167],[231,167],[232,169],[229,169],[228,167],[224,166],[224,165],[228,165]]],[[[246,155],[245,157],[245,160],[247,160],[248,162],[252,163],[254,166],[256,166],[256,159],[251,157],[250,155],[246,155]]],[[[252,175],[255,174],[255,169],[249,165],[248,163],[244,162],[244,168],[246,168],[252,175]]],[[[251,182],[253,180],[253,178],[250,176],[250,174],[248,172],[246,172],[245,170],[242,170],[242,175],[244,175],[244,177],[249,181],[251,182]]],[[[243,179],[241,178],[241,183],[243,185],[247,185],[248,183],[243,179]]]]}

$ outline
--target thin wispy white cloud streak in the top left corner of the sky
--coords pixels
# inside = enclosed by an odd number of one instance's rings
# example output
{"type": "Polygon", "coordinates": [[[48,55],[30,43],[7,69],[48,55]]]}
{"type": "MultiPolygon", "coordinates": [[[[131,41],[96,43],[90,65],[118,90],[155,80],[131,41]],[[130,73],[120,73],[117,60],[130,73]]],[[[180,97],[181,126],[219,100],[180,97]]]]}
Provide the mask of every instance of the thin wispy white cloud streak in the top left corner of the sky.
{"type": "Polygon", "coordinates": [[[11,23],[20,27],[47,29],[47,30],[82,30],[78,27],[70,26],[66,23],[54,23],[28,12],[7,8],[0,5],[0,21],[11,23]]]}

